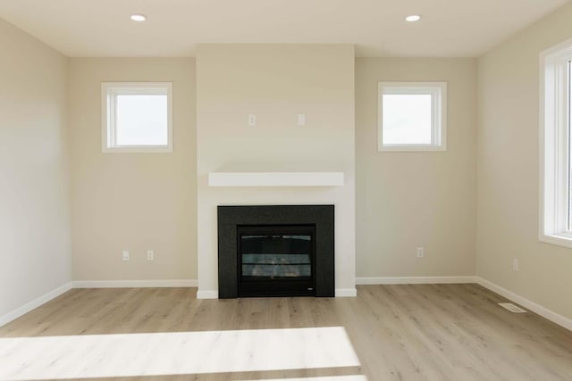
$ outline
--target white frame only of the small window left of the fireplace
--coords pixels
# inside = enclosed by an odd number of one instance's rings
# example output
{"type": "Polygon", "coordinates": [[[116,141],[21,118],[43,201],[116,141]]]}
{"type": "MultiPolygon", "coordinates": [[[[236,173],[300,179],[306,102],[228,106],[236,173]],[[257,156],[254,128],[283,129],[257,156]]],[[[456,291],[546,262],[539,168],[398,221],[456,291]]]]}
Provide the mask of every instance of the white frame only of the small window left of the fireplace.
{"type": "Polygon", "coordinates": [[[101,150],[104,153],[172,153],[172,82],[102,82],[101,150]],[[117,95],[167,95],[167,144],[117,145],[117,95]]]}

